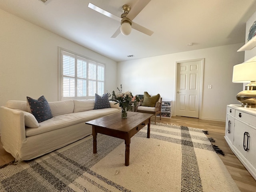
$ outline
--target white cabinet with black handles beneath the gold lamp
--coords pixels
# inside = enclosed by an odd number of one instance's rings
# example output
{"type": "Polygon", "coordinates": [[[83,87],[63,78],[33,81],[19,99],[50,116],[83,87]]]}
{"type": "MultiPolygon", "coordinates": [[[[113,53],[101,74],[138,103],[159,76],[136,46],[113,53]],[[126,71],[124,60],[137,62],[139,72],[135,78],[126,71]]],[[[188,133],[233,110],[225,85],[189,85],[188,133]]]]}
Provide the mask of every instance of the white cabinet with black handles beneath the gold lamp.
{"type": "Polygon", "coordinates": [[[256,179],[256,109],[228,105],[225,140],[256,179]]]}

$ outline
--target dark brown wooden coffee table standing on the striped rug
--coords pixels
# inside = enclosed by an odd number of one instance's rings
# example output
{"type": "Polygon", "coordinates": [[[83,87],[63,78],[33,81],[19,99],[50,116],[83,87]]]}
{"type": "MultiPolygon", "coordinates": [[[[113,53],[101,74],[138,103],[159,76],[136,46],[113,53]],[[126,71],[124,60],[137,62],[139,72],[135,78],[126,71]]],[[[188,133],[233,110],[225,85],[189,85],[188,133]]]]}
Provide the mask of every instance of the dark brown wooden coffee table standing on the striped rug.
{"type": "Polygon", "coordinates": [[[126,119],[121,114],[113,114],[86,122],[92,125],[93,153],[97,153],[97,133],[124,139],[125,142],[125,166],[129,166],[130,142],[145,125],[148,125],[147,138],[150,138],[150,118],[152,114],[127,112],[126,119]]]}

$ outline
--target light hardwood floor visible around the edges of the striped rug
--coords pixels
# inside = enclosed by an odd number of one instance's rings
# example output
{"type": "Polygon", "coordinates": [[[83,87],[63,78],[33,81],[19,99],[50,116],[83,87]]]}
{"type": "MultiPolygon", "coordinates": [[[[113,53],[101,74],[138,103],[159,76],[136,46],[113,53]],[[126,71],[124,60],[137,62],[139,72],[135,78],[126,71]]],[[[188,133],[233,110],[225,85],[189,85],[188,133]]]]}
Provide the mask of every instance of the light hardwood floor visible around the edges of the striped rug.
{"type": "MultiPolygon", "coordinates": [[[[228,172],[236,182],[241,192],[255,192],[256,181],[236,158],[234,153],[230,150],[228,144],[224,139],[225,135],[225,122],[200,120],[197,118],[188,118],[181,116],[173,116],[172,118],[156,118],[156,122],[183,125],[188,127],[200,128],[208,131],[208,137],[214,138],[217,145],[225,153],[225,156],[219,155],[225,164],[228,172]]],[[[0,167],[8,162],[12,162],[14,158],[2,148],[0,141],[0,167]]]]}

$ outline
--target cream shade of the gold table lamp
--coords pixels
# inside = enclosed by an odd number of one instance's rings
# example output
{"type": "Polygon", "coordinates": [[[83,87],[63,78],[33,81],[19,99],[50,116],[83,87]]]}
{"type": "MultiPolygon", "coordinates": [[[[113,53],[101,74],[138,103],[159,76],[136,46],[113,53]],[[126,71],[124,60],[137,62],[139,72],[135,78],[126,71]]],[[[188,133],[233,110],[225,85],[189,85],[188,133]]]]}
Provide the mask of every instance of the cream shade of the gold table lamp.
{"type": "Polygon", "coordinates": [[[248,62],[235,65],[233,68],[234,83],[246,83],[256,81],[256,62],[248,62]]]}

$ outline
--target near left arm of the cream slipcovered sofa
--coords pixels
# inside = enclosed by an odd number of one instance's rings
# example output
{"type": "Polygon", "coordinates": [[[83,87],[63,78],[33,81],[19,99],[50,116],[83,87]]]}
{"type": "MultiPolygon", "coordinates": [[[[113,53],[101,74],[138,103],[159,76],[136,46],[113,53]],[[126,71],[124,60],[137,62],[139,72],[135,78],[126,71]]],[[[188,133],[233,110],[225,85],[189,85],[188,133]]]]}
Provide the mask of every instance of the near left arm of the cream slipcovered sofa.
{"type": "Polygon", "coordinates": [[[0,129],[4,149],[18,161],[22,142],[26,141],[24,113],[1,106],[0,129]]]}

